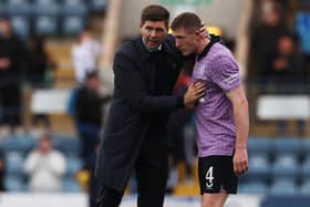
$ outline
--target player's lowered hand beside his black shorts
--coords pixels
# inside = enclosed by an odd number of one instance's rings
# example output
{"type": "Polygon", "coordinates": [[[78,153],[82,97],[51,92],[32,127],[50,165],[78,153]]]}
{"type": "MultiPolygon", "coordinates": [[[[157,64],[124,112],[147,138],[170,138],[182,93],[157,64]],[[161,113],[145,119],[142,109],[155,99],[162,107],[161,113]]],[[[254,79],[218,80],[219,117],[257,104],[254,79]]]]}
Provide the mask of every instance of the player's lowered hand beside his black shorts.
{"type": "Polygon", "coordinates": [[[248,152],[246,147],[236,148],[234,155],[234,172],[237,176],[248,170],[248,152]]]}

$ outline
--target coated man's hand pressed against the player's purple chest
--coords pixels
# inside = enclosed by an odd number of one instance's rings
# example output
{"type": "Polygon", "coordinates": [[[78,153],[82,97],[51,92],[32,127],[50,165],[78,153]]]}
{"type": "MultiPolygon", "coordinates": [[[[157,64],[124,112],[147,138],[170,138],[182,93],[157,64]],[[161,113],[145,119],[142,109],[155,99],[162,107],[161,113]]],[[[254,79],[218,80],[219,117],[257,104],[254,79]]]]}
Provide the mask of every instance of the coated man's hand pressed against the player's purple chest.
{"type": "Polygon", "coordinates": [[[185,107],[190,108],[190,106],[194,106],[199,97],[203,97],[205,95],[205,91],[206,86],[204,83],[192,83],[184,95],[185,107]]]}

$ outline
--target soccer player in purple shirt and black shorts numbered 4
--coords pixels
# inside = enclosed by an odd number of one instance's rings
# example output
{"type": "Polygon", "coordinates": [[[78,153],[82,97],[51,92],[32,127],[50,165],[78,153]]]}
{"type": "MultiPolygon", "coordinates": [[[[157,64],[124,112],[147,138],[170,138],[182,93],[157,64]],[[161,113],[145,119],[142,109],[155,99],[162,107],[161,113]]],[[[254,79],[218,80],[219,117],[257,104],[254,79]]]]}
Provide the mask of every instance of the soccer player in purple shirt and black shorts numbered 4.
{"type": "Polygon", "coordinates": [[[172,29],[183,55],[197,55],[194,82],[206,85],[195,110],[202,206],[223,207],[248,168],[248,102],[232,54],[218,37],[200,38],[200,24],[195,13],[182,13],[172,29]]]}

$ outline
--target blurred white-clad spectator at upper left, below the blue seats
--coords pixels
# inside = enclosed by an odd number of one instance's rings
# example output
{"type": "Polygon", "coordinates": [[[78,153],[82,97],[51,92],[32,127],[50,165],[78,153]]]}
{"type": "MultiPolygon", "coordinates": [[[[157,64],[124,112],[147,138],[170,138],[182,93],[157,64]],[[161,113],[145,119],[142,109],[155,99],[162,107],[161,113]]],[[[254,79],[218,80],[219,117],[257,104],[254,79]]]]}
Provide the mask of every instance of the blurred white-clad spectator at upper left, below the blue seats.
{"type": "Polygon", "coordinates": [[[78,44],[73,45],[71,55],[75,70],[76,81],[83,83],[87,72],[97,69],[99,55],[103,52],[102,45],[89,31],[83,31],[78,44]]]}

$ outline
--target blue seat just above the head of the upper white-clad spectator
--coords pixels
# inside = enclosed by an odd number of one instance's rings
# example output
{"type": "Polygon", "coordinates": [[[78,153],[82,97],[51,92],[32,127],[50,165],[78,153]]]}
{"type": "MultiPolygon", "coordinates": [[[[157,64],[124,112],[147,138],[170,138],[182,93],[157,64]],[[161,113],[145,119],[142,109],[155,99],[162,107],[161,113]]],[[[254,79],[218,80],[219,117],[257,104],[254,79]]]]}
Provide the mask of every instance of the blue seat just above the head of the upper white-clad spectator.
{"type": "Polygon", "coordinates": [[[85,18],[81,15],[66,15],[62,20],[62,33],[64,35],[76,35],[85,28],[85,18]]]}

